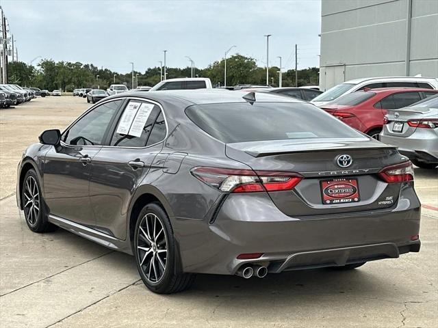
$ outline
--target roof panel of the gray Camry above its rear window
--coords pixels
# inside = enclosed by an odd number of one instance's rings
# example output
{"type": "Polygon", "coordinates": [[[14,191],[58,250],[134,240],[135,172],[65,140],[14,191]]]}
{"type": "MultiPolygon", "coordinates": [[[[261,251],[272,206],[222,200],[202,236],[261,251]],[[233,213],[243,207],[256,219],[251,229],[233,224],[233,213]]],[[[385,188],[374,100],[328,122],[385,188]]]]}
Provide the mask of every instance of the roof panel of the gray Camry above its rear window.
{"type": "MultiPolygon", "coordinates": [[[[138,92],[124,92],[123,94],[118,94],[111,96],[110,98],[127,98],[136,97],[155,100],[157,102],[181,102],[186,106],[190,105],[205,105],[205,104],[216,104],[216,103],[226,103],[226,102],[245,102],[246,100],[242,98],[247,94],[253,94],[253,92],[248,91],[229,91],[229,90],[218,90],[218,89],[198,89],[198,90],[162,90],[162,91],[150,91],[144,94],[138,92]]],[[[300,99],[292,97],[280,97],[276,94],[270,93],[257,93],[255,94],[256,102],[305,102],[300,99]]]]}

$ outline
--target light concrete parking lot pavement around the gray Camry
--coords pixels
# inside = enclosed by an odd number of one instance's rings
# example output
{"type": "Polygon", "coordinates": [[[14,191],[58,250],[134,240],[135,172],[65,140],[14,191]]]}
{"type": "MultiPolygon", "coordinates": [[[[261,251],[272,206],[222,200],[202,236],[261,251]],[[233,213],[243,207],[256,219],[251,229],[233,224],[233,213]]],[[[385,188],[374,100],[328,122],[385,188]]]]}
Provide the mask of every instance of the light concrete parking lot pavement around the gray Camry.
{"type": "Polygon", "coordinates": [[[30,232],[13,195],[21,152],[87,107],[79,98],[37,98],[1,111],[0,327],[437,327],[437,170],[415,169],[420,253],[349,272],[198,275],[187,292],[155,295],[131,256],[64,230],[30,232]]]}

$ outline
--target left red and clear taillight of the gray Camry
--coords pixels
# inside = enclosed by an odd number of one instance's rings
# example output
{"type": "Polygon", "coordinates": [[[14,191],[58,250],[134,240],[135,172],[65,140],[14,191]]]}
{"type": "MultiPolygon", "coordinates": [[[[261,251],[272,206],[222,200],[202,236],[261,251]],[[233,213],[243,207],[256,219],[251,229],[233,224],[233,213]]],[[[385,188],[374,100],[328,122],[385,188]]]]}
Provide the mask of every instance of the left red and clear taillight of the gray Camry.
{"type": "Polygon", "coordinates": [[[194,167],[191,172],[199,180],[226,193],[291,190],[302,180],[296,173],[250,169],[194,167]]]}

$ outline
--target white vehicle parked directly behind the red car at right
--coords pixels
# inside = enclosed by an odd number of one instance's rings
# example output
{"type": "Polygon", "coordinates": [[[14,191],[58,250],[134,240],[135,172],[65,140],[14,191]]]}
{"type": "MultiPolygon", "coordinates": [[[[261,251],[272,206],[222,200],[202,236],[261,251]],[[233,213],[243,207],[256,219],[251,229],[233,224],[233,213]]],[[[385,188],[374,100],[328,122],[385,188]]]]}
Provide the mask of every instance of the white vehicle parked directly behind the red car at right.
{"type": "Polygon", "coordinates": [[[316,105],[324,105],[340,96],[363,89],[377,89],[381,87],[423,87],[425,89],[438,89],[438,78],[435,77],[370,77],[346,81],[335,85],[311,102],[316,105]]]}

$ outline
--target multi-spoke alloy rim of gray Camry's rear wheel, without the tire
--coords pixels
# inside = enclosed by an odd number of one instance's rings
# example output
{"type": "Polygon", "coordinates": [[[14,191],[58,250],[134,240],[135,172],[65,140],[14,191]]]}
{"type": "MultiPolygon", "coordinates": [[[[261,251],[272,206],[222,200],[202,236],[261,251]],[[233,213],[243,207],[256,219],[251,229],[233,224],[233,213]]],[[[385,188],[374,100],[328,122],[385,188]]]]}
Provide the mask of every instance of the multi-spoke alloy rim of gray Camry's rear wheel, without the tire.
{"type": "Polygon", "coordinates": [[[146,279],[156,284],[166,271],[168,243],[164,224],[153,213],[142,217],[137,236],[137,251],[140,267],[146,279]]]}

